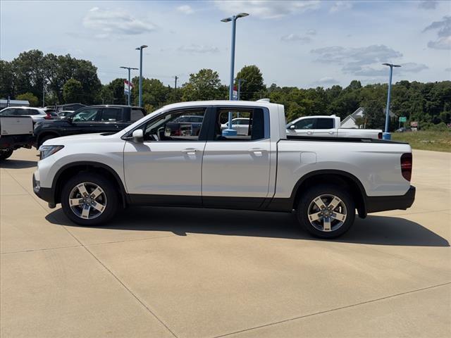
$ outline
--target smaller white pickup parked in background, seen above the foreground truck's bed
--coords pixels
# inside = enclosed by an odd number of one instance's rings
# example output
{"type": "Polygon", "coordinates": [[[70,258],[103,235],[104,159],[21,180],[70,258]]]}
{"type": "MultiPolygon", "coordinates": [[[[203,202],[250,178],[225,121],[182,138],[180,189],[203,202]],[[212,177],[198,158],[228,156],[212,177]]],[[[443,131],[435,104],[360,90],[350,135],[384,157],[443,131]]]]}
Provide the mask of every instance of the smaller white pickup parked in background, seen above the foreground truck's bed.
{"type": "Polygon", "coordinates": [[[340,128],[338,116],[303,116],[287,125],[287,133],[314,137],[358,137],[361,139],[382,139],[382,130],[340,128]]]}

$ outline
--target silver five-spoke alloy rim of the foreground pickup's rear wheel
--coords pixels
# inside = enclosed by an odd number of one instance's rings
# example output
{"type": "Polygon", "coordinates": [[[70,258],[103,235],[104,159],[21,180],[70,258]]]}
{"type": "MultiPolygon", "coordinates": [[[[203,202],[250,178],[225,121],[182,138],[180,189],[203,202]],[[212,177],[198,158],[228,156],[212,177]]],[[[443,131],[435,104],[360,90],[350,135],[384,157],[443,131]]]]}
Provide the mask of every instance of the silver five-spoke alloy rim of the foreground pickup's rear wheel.
{"type": "Polygon", "coordinates": [[[335,195],[317,196],[309,204],[309,222],[319,231],[330,232],[340,228],[346,220],[346,206],[335,195]]]}

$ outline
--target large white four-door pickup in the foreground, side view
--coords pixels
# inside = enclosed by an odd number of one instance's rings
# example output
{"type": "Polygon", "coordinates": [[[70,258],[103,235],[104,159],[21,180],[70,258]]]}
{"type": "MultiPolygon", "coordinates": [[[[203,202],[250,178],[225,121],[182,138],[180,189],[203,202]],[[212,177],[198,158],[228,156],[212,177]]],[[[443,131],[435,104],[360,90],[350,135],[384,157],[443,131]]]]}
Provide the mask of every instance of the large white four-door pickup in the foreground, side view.
{"type": "Polygon", "coordinates": [[[333,238],[356,209],[361,218],[406,209],[415,196],[409,144],[287,135],[283,106],[267,102],[171,104],[116,134],[58,137],[39,151],[35,194],[87,226],[121,206],[234,208],[295,212],[309,232],[333,238]],[[246,134],[223,136],[229,112],[250,116],[246,134]],[[200,130],[166,127],[181,115],[203,116],[200,130]]]}

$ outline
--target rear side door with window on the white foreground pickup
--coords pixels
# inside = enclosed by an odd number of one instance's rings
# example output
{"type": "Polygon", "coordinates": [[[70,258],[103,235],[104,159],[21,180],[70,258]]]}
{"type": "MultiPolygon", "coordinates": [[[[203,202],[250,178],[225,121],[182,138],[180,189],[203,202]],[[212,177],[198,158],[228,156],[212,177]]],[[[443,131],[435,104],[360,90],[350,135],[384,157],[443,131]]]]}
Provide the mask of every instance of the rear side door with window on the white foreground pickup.
{"type": "Polygon", "coordinates": [[[202,160],[202,203],[219,208],[259,208],[268,196],[271,142],[262,108],[216,108],[202,160]],[[221,122],[249,116],[246,132],[223,136],[221,122]]]}

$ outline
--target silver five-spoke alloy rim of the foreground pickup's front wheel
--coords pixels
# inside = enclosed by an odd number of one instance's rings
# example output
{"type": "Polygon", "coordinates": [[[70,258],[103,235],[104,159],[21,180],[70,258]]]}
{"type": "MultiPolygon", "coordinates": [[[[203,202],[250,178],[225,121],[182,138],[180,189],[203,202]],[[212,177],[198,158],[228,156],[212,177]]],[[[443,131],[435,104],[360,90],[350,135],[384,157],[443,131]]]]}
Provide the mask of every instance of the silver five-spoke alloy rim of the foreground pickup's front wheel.
{"type": "Polygon", "coordinates": [[[70,191],[69,206],[78,217],[92,220],[104,213],[106,194],[97,184],[82,182],[70,191]]]}

